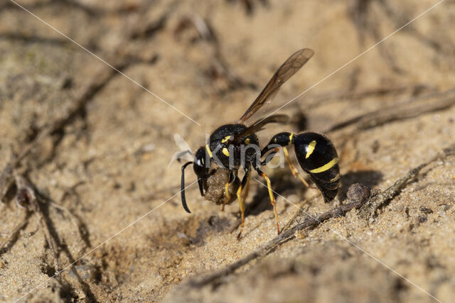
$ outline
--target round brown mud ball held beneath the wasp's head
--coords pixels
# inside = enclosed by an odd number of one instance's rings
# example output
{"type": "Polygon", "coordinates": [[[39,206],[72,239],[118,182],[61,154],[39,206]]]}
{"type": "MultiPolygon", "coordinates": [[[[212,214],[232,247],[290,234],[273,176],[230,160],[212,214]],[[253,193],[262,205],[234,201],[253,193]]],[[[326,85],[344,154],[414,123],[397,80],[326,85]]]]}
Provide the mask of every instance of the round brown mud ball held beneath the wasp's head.
{"type": "MultiPolygon", "coordinates": [[[[204,181],[204,197],[215,204],[223,204],[225,201],[225,184],[229,182],[229,170],[224,167],[210,167],[208,178],[204,181]]],[[[240,179],[228,187],[230,199],[226,204],[231,204],[237,199],[237,189],[240,187],[240,179]]]]}

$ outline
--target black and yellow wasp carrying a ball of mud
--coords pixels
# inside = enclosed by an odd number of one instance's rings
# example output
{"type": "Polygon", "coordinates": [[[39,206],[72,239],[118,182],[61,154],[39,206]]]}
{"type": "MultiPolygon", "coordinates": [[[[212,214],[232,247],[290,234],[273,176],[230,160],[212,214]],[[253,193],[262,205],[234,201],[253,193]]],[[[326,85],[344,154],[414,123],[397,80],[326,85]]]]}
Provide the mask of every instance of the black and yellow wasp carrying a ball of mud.
{"type": "MultiPolygon", "coordinates": [[[[255,99],[249,109],[240,117],[238,123],[226,124],[217,128],[210,135],[208,143],[200,147],[194,155],[194,160],[186,162],[182,166],[181,175],[181,200],[183,208],[190,213],[186,205],[185,198],[185,168],[193,164],[193,170],[198,177],[198,184],[200,194],[204,196],[204,185],[209,178],[210,165],[217,165],[223,170],[228,170],[229,181],[225,184],[225,199],[223,202],[223,210],[226,202],[233,201],[230,197],[229,186],[234,182],[237,177],[237,172],[240,167],[245,171],[242,182],[237,189],[237,199],[240,204],[240,211],[242,214],[242,224],[240,226],[240,233],[243,231],[245,224],[245,206],[244,200],[246,194],[242,197],[242,191],[247,192],[250,182],[251,170],[254,169],[261,177],[267,182],[269,190],[270,202],[272,203],[277,222],[277,231],[279,231],[279,223],[277,216],[277,206],[275,204],[272,186],[269,177],[262,172],[260,167],[267,165],[267,162],[272,160],[274,155],[277,154],[280,148],[283,149],[284,155],[289,163],[293,175],[298,175],[300,180],[306,184],[305,180],[298,174],[294,165],[292,165],[287,153],[287,146],[294,145],[296,158],[299,161],[301,168],[309,174],[311,180],[319,188],[325,202],[330,202],[335,198],[338,187],[340,187],[340,170],[338,167],[338,155],[333,143],[321,133],[304,132],[300,134],[295,133],[278,133],[273,136],[269,144],[262,150],[259,149],[259,138],[256,133],[264,128],[268,123],[285,123],[287,116],[273,115],[260,119],[251,126],[245,126],[245,121],[261,108],[268,99],[277,93],[278,89],[286,82],[292,75],[294,75],[312,56],[314,51],[309,48],[298,50],[291,55],[281,67],[274,73],[272,79],[269,80],[267,85],[262,89],[262,92],[255,99]],[[272,152],[272,153],[269,153],[272,152]],[[268,154],[268,156],[267,156],[268,154]],[[264,159],[265,158],[265,159],[264,159]],[[264,159],[264,160],[261,160],[264,159]]],[[[238,182],[237,182],[238,183],[238,182]]],[[[308,186],[308,184],[306,184],[308,186]]]]}

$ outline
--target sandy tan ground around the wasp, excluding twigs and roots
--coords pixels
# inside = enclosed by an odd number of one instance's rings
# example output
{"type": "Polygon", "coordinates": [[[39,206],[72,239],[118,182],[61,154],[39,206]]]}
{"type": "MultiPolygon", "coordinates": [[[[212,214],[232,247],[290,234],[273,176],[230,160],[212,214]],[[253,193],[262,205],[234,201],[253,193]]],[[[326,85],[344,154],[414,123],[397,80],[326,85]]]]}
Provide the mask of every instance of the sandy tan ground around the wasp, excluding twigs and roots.
{"type": "MultiPolygon", "coordinates": [[[[272,207],[267,191],[253,179],[245,231],[237,241],[238,229],[230,232],[240,217],[237,203],[222,212],[193,184],[186,191],[193,214],[187,214],[178,194],[181,164],[168,166],[178,151],[175,133],[196,150],[205,133],[237,121],[295,50],[312,48],[315,55],[282,87],[276,105],[437,1],[19,3],[137,83],[113,73],[72,119],[41,138],[21,161],[18,170],[53,200],[42,201],[41,209],[57,246],[58,269],[65,270],[55,276],[40,216],[26,210],[31,206],[16,205],[13,186],[0,204],[0,243],[20,228],[0,251],[1,301],[453,299],[453,156],[425,167],[377,216],[365,220],[353,210],[299,231],[272,253],[204,287],[192,287],[188,279],[220,270],[277,236],[272,207]]],[[[13,2],[0,6],[3,169],[110,68],[13,2]]],[[[355,182],[387,189],[454,143],[455,97],[441,94],[454,88],[454,26],[455,2],[446,0],[289,104],[282,112],[294,123],[259,134],[265,144],[283,130],[325,131],[340,155],[343,186],[331,204],[305,189],[287,168],[267,170],[279,194],[282,227],[346,203],[355,182]],[[370,112],[390,108],[390,116],[402,104],[431,107],[444,98],[449,105],[370,128],[353,121],[331,131],[370,112]]],[[[195,180],[187,170],[187,183],[195,180]]]]}

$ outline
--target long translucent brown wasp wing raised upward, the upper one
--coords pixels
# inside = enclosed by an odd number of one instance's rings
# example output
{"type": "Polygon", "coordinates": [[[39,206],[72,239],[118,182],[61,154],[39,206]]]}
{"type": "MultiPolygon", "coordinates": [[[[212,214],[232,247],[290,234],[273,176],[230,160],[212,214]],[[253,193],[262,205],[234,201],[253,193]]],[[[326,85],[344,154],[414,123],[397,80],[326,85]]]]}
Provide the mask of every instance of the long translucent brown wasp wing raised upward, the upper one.
{"type": "Polygon", "coordinates": [[[278,89],[292,77],[300,67],[314,55],[314,50],[303,48],[297,50],[292,54],[281,67],[274,73],[272,79],[269,80],[267,85],[262,89],[262,92],[257,96],[255,101],[251,104],[250,108],[245,111],[245,114],[239,119],[239,123],[245,123],[245,120],[250,118],[255,112],[263,106],[268,99],[277,94],[278,89]]]}

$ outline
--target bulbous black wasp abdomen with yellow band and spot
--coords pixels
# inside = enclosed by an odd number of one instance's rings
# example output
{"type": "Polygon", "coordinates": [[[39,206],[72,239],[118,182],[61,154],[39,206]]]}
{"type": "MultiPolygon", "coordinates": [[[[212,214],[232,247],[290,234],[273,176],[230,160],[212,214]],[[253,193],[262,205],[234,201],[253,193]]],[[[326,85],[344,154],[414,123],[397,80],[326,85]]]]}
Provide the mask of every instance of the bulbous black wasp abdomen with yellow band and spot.
{"type": "Polygon", "coordinates": [[[333,200],[340,187],[338,154],[333,143],[321,133],[301,133],[294,136],[294,148],[301,168],[321,190],[324,201],[333,200]]]}

